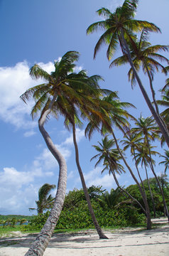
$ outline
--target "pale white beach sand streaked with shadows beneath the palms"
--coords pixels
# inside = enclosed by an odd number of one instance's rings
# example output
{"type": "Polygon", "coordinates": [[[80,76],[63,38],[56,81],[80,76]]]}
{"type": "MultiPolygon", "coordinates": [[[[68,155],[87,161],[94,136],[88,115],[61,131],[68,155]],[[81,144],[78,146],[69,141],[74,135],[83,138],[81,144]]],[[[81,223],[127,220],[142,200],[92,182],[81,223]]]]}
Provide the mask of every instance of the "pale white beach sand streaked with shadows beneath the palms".
{"type": "MultiPolygon", "coordinates": [[[[73,235],[54,234],[44,256],[168,256],[168,221],[165,218],[153,222],[165,225],[153,230],[124,228],[105,232],[109,240],[100,240],[95,230],[73,235]]],[[[36,234],[14,235],[0,240],[0,256],[24,255],[36,237],[36,234]]]]}

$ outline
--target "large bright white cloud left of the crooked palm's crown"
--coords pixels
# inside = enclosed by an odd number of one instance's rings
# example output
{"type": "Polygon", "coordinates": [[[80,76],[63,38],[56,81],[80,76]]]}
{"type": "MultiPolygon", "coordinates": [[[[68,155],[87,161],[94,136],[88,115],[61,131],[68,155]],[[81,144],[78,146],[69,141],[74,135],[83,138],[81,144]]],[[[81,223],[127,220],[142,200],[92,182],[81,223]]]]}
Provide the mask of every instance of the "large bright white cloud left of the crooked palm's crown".
{"type": "MultiPolygon", "coordinates": [[[[53,70],[53,63],[39,63],[42,68],[48,72],[53,70]]],[[[42,82],[41,80],[33,80],[29,75],[29,65],[26,61],[17,63],[13,67],[0,68],[0,94],[1,109],[0,118],[9,124],[13,124],[17,129],[31,129],[37,124],[33,122],[30,116],[33,101],[28,105],[21,101],[20,96],[28,88],[42,82]]],[[[31,136],[33,132],[25,134],[31,136]]]]}

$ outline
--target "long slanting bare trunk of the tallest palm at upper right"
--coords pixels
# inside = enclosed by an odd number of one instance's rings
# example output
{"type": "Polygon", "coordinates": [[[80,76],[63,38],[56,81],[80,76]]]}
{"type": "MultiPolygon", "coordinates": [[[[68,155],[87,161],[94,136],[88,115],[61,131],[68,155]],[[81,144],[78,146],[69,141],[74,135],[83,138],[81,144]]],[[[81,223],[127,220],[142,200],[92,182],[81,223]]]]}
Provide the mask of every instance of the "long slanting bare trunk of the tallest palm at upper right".
{"type": "Polygon", "coordinates": [[[132,62],[132,59],[131,59],[130,50],[129,50],[129,47],[128,47],[128,45],[126,43],[126,40],[124,38],[124,31],[123,31],[122,28],[121,28],[121,38],[122,38],[122,41],[124,42],[123,46],[124,46],[124,48],[126,50],[126,54],[128,55],[129,63],[130,63],[131,68],[133,70],[133,74],[135,75],[136,80],[138,82],[138,86],[140,87],[141,92],[143,94],[143,97],[146,100],[146,103],[147,103],[147,105],[149,107],[149,110],[151,110],[151,114],[153,114],[153,117],[154,117],[154,119],[156,120],[156,122],[158,124],[160,132],[162,132],[163,137],[165,138],[165,142],[168,144],[168,147],[169,147],[169,133],[168,133],[168,130],[165,129],[165,126],[163,125],[163,122],[161,122],[160,117],[158,117],[158,114],[157,114],[156,110],[154,109],[153,105],[151,104],[151,100],[149,99],[148,94],[147,94],[145,88],[142,85],[142,82],[141,82],[141,80],[140,80],[140,78],[138,76],[138,73],[136,72],[136,68],[134,68],[134,65],[133,65],[133,62],[132,62]]]}

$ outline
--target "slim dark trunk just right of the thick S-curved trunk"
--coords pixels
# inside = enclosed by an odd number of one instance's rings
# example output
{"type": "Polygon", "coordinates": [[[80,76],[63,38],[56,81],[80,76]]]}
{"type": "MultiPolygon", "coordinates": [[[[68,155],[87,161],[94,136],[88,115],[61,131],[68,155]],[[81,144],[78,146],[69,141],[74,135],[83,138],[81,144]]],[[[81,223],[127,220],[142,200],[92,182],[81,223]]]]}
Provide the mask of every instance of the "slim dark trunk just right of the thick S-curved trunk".
{"type": "Polygon", "coordinates": [[[87,186],[86,186],[86,183],[84,181],[84,176],[83,176],[83,173],[82,173],[82,169],[80,167],[79,151],[78,151],[78,146],[77,146],[77,142],[76,142],[75,124],[72,124],[72,133],[73,133],[73,142],[74,142],[74,145],[75,145],[75,155],[76,155],[77,169],[79,171],[80,179],[82,181],[82,188],[83,188],[83,191],[84,191],[85,198],[87,200],[87,205],[88,205],[88,208],[89,208],[89,213],[92,216],[92,220],[93,220],[94,226],[95,226],[95,228],[97,230],[97,233],[99,235],[99,238],[100,239],[101,238],[102,239],[108,239],[107,236],[104,235],[104,233],[102,231],[102,228],[100,228],[99,223],[97,222],[96,216],[94,215],[94,210],[92,208],[92,204],[90,202],[89,193],[87,191],[87,186]]]}

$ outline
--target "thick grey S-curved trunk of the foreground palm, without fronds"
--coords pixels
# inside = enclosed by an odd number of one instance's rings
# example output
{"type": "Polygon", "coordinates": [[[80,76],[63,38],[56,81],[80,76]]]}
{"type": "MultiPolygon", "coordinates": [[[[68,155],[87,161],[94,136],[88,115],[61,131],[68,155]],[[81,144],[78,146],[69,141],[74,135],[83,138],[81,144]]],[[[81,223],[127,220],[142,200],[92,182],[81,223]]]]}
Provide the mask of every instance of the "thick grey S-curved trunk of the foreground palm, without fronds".
{"type": "Polygon", "coordinates": [[[65,193],[66,193],[66,183],[67,183],[67,165],[65,159],[60,154],[58,149],[56,149],[55,145],[52,142],[48,132],[45,131],[43,125],[45,123],[45,119],[47,115],[50,113],[53,103],[55,102],[56,95],[53,96],[53,100],[50,102],[48,110],[46,110],[40,119],[38,120],[38,126],[40,129],[43,138],[45,139],[45,143],[48,146],[48,149],[53,154],[55,159],[58,161],[60,171],[59,171],[59,178],[58,178],[58,189],[55,196],[55,201],[52,210],[50,211],[50,215],[48,220],[46,220],[45,225],[43,226],[42,230],[38,234],[36,240],[31,245],[28,252],[26,252],[25,256],[42,256],[45,248],[48,246],[48,242],[53,234],[53,230],[55,229],[55,225],[58,221],[60,216],[62,206],[65,200],[65,193]]]}

